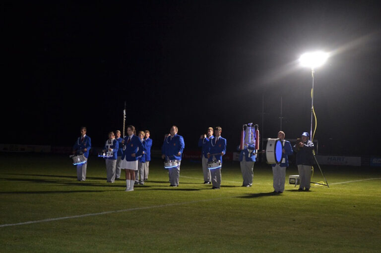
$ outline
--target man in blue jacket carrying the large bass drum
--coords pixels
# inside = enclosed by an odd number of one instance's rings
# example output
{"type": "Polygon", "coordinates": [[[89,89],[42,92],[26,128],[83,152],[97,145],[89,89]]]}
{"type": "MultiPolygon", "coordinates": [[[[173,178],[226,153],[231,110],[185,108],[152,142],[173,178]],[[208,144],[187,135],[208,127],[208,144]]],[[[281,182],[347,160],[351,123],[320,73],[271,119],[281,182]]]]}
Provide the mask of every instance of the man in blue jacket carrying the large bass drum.
{"type": "Polygon", "coordinates": [[[286,168],[288,167],[288,156],[293,154],[289,141],[284,139],[286,135],[283,131],[278,132],[278,138],[282,142],[282,161],[280,164],[272,164],[274,193],[283,193],[284,182],[286,180],[286,168]]]}

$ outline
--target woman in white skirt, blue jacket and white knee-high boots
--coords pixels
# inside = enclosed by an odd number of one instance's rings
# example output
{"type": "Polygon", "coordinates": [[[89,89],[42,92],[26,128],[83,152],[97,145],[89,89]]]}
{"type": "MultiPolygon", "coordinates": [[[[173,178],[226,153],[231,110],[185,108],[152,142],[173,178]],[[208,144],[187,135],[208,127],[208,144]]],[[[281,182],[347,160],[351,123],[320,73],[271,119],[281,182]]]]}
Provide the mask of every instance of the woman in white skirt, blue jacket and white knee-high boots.
{"type": "Polygon", "coordinates": [[[123,155],[121,168],[126,172],[126,192],[133,191],[135,182],[135,170],[137,170],[137,158],[144,151],[139,138],[134,135],[135,127],[127,126],[127,136],[122,141],[123,155]]]}

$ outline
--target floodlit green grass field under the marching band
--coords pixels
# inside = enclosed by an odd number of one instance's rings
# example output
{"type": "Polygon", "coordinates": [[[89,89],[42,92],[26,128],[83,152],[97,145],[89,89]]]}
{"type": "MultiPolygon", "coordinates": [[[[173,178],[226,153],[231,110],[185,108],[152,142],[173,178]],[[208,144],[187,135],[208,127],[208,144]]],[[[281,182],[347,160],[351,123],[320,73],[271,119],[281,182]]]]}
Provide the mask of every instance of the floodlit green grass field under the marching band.
{"type": "Polygon", "coordinates": [[[149,181],[133,192],[125,180],[106,183],[98,157],[85,182],[67,156],[2,153],[0,164],[1,253],[381,252],[381,168],[322,166],[330,188],[286,184],[273,195],[264,164],[247,188],[239,164],[226,162],[221,189],[211,190],[200,163],[184,160],[172,188],[152,161],[149,181]]]}

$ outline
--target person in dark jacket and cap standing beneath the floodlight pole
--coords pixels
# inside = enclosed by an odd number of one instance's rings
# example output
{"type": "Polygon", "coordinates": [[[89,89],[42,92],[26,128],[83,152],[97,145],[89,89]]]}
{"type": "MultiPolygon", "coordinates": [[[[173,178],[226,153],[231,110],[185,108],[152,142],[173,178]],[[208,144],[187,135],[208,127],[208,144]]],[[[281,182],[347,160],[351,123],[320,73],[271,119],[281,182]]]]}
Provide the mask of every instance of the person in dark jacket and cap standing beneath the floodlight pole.
{"type": "Polygon", "coordinates": [[[309,191],[311,183],[311,169],[314,162],[314,143],[309,140],[309,133],[304,132],[301,141],[294,145],[296,164],[299,171],[299,191],[309,191]]]}

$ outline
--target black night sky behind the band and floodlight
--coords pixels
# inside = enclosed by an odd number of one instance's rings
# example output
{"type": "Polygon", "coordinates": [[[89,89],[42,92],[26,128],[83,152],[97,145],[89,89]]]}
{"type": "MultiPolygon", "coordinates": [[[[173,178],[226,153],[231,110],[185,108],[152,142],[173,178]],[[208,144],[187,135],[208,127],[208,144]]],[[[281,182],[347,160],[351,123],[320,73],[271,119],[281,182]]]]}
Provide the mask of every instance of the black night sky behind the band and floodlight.
{"type": "Polygon", "coordinates": [[[380,2],[5,1],[0,143],[93,146],[126,125],[159,149],[175,124],[186,150],[222,127],[228,151],[242,125],[264,137],[310,132],[305,51],[331,52],[316,70],[321,154],[380,155],[380,2]],[[264,105],[264,121],[262,117],[264,105]],[[262,127],[263,125],[263,127],[262,127]]]}

